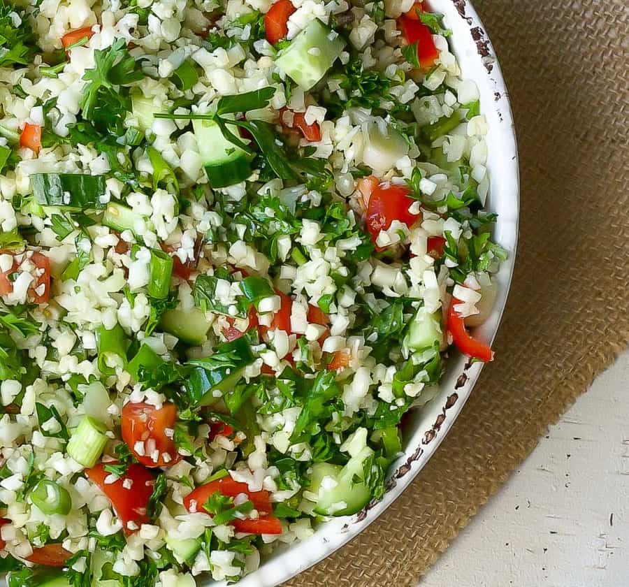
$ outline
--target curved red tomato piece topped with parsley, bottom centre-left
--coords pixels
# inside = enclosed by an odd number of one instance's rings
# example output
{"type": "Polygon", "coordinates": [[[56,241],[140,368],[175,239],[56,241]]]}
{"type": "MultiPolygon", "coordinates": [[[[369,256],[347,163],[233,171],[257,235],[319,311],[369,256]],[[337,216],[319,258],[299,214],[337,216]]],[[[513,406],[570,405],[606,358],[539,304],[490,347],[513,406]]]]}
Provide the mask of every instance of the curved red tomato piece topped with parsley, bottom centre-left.
{"type": "Polygon", "coordinates": [[[260,514],[258,519],[237,519],[231,521],[231,525],[236,528],[237,532],[248,532],[250,534],[282,533],[280,521],[275,516],[270,515],[273,513],[273,506],[271,505],[268,491],[249,491],[246,483],[234,481],[231,477],[223,477],[197,487],[184,498],[184,506],[188,512],[202,512],[205,502],[217,491],[230,498],[236,498],[240,493],[245,493],[247,498],[253,503],[258,514],[260,514]]]}

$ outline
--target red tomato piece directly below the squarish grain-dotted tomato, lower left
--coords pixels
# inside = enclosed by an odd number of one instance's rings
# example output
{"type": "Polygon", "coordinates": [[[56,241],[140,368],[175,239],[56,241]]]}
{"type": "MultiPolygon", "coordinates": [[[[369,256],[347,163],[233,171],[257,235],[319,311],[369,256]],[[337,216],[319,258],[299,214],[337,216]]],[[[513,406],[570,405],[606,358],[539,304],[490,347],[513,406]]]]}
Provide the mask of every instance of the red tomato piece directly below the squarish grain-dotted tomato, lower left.
{"type": "MultiPolygon", "coordinates": [[[[155,477],[144,465],[131,463],[126,470],[126,474],[122,475],[120,479],[113,483],[106,483],[105,479],[109,473],[103,466],[103,463],[99,463],[95,467],[87,469],[85,474],[107,495],[116,511],[116,515],[122,521],[124,531],[127,533],[132,532],[133,530],[130,530],[128,526],[129,522],[136,523],[139,527],[149,521],[146,515],[146,508],[153,493],[155,477]],[[124,481],[127,479],[131,481],[129,489],[124,487],[124,481]]],[[[127,485],[129,481],[127,481],[127,485]]]]}

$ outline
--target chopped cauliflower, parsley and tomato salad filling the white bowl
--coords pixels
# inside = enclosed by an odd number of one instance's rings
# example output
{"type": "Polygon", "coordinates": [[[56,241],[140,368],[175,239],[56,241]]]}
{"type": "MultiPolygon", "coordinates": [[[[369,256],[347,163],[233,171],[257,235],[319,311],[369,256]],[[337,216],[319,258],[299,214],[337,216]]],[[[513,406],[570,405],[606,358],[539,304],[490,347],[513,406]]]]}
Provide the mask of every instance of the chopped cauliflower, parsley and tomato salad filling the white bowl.
{"type": "Polygon", "coordinates": [[[237,581],[383,495],[450,349],[491,361],[449,34],[412,0],[0,0],[10,587],[237,581]]]}

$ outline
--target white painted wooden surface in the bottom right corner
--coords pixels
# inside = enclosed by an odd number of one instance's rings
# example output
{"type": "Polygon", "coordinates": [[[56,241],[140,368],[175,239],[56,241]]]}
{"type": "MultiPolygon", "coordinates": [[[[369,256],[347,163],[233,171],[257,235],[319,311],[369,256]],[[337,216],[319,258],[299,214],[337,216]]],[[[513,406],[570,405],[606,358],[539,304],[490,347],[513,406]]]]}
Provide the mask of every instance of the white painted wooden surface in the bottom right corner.
{"type": "Polygon", "coordinates": [[[549,429],[421,587],[629,587],[629,352],[549,429]]]}

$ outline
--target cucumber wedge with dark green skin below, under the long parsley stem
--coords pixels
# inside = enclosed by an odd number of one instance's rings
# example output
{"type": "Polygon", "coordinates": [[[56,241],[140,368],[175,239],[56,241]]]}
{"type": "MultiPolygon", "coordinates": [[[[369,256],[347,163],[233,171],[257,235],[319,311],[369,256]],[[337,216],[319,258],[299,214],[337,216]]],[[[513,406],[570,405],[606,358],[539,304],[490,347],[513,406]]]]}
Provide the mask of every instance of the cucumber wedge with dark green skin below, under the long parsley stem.
{"type": "Polygon", "coordinates": [[[250,177],[252,157],[238,145],[230,143],[216,122],[193,120],[192,128],[211,187],[229,187],[250,177]]]}

